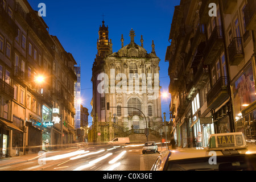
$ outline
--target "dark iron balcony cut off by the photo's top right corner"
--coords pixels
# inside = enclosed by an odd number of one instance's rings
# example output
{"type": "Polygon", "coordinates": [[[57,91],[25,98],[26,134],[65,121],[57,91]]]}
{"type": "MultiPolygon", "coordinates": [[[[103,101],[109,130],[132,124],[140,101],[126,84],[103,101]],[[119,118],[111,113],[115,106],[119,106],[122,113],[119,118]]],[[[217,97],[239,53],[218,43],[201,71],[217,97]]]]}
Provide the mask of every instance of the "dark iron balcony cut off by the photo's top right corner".
{"type": "Polygon", "coordinates": [[[243,14],[245,15],[246,30],[256,30],[256,0],[248,0],[243,14]]]}

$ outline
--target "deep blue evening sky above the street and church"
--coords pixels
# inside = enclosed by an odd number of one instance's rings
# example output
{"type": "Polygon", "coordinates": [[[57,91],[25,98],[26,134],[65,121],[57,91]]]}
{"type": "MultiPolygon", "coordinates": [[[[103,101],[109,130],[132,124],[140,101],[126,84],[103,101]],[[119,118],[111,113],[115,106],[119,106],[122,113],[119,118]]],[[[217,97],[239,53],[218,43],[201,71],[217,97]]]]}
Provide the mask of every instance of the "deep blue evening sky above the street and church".
{"type": "MultiPolygon", "coordinates": [[[[164,61],[174,6],[180,1],[171,0],[109,0],[109,1],[50,1],[28,0],[31,7],[38,11],[39,3],[46,4],[46,17],[43,19],[49,27],[49,34],[56,35],[67,52],[72,53],[77,64],[81,63],[81,97],[82,105],[92,110],[92,65],[97,54],[98,28],[104,14],[105,25],[109,27],[109,39],[112,39],[113,52],[121,48],[121,35],[124,45],[130,43],[129,32],[135,31],[135,43],[151,52],[154,40],[156,55],[160,58],[161,92],[168,92],[168,62],[164,61]]],[[[170,97],[170,96],[169,96],[170,97]]],[[[167,113],[169,121],[169,104],[171,98],[162,98],[162,113],[167,113]]],[[[92,118],[89,116],[89,125],[92,118]]]]}

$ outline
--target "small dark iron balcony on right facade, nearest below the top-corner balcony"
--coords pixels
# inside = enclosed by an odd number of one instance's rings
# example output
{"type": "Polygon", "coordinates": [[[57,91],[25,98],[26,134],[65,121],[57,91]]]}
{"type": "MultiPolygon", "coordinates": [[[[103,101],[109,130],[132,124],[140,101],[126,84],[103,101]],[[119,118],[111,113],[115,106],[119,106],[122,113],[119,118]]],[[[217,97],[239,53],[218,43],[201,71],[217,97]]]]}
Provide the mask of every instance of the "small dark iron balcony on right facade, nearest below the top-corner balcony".
{"type": "Polygon", "coordinates": [[[238,65],[245,57],[243,52],[242,38],[233,38],[228,47],[230,65],[238,65]]]}

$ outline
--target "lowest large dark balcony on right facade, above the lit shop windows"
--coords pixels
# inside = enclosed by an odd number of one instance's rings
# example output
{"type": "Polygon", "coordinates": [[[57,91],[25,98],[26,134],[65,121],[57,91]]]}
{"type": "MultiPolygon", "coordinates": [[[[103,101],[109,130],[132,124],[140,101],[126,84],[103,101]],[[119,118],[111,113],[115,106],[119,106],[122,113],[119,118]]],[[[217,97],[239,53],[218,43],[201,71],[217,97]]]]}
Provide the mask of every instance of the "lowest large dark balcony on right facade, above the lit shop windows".
{"type": "Polygon", "coordinates": [[[228,98],[228,78],[220,77],[207,94],[207,106],[214,109],[228,98]]]}

